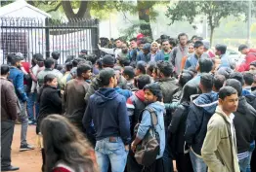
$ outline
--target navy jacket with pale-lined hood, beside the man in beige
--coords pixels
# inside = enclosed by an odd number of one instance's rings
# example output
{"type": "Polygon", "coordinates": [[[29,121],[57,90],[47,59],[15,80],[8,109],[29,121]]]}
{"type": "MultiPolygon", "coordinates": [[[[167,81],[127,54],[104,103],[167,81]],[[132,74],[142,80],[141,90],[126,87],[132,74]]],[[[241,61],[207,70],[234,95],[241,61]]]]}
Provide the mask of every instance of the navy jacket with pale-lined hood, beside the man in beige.
{"type": "Polygon", "coordinates": [[[218,94],[214,91],[200,94],[192,101],[187,119],[185,140],[195,154],[201,155],[201,147],[207,131],[207,123],[218,105],[218,94]]]}

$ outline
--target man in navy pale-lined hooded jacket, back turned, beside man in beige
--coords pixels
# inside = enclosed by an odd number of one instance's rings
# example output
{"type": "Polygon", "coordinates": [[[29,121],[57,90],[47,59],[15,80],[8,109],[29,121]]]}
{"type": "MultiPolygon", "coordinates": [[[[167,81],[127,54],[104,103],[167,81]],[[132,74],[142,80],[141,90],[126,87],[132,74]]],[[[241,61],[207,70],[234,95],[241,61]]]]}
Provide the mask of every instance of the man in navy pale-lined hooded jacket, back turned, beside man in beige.
{"type": "Polygon", "coordinates": [[[206,135],[207,123],[215,112],[218,104],[218,94],[212,91],[213,77],[202,74],[199,88],[202,94],[192,101],[187,118],[185,140],[191,147],[190,155],[194,172],[206,172],[207,166],[201,156],[201,148],[206,135]]]}

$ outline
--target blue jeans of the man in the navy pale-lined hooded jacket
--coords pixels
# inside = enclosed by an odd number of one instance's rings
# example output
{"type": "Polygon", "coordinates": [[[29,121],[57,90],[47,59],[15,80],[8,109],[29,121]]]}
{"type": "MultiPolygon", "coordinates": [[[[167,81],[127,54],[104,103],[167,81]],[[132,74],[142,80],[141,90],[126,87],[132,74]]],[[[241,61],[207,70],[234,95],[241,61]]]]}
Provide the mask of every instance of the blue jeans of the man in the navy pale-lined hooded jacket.
{"type": "Polygon", "coordinates": [[[195,155],[192,150],[190,151],[191,160],[192,160],[192,169],[193,172],[207,172],[207,166],[204,163],[203,159],[198,155],[195,155]]]}

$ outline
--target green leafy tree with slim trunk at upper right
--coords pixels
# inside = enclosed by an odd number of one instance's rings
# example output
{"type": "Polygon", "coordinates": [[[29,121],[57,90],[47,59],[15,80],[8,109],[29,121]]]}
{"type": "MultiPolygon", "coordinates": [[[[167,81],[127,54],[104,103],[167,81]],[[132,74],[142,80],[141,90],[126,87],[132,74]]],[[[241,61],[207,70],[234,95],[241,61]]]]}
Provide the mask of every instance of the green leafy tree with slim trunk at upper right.
{"type": "Polygon", "coordinates": [[[206,16],[212,44],[214,29],[220,25],[221,18],[244,14],[245,6],[242,1],[179,1],[168,7],[166,16],[170,18],[170,24],[176,20],[192,23],[196,16],[206,16]]]}

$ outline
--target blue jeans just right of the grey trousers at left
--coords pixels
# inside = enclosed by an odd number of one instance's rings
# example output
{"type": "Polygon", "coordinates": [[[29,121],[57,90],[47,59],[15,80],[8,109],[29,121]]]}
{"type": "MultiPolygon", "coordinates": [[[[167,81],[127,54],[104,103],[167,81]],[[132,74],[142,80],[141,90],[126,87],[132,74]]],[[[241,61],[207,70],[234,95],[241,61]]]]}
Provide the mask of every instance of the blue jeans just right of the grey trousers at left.
{"type": "Polygon", "coordinates": [[[27,94],[28,100],[27,100],[27,115],[28,119],[31,121],[35,121],[39,114],[39,104],[37,103],[37,93],[36,92],[29,92],[27,94]],[[34,107],[35,107],[35,114],[34,114],[34,107]]]}

